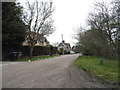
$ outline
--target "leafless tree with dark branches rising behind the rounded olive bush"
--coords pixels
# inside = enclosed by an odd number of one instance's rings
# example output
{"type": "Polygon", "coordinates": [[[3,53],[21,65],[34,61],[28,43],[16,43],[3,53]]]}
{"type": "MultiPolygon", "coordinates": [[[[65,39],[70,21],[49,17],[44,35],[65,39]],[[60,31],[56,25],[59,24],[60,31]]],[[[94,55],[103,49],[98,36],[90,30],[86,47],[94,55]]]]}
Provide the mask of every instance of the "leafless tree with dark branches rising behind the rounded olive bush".
{"type": "MultiPolygon", "coordinates": [[[[113,11],[111,7],[107,6],[105,2],[95,3],[95,13],[90,13],[88,18],[88,23],[92,29],[100,31],[100,35],[106,35],[108,38],[108,44],[110,46],[111,52],[116,54],[116,44],[115,44],[115,33],[116,33],[116,21],[115,16],[113,16],[113,11]],[[111,49],[113,48],[113,49],[111,49]]],[[[103,40],[102,40],[103,41],[103,40]]]]}

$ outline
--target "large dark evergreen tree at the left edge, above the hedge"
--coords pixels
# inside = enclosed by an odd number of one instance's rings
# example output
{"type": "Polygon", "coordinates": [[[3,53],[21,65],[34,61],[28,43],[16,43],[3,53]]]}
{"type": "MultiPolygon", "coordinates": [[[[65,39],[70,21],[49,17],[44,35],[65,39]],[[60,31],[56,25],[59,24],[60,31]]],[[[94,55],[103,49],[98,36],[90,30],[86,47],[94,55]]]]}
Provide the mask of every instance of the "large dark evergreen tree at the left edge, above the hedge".
{"type": "Polygon", "coordinates": [[[15,2],[2,3],[2,45],[3,49],[18,47],[25,39],[25,24],[22,21],[22,7],[15,2]]]}

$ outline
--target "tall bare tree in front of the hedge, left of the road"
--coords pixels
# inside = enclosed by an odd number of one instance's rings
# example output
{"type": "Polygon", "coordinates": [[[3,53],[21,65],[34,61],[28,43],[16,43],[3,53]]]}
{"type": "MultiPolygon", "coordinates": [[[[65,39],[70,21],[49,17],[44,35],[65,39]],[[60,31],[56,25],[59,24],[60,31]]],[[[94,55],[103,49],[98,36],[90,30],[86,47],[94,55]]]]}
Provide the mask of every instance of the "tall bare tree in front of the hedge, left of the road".
{"type": "Polygon", "coordinates": [[[32,57],[32,52],[39,35],[49,35],[54,31],[53,20],[51,18],[54,11],[52,2],[33,3],[27,1],[24,9],[23,20],[27,26],[27,40],[30,48],[29,56],[32,57]]]}

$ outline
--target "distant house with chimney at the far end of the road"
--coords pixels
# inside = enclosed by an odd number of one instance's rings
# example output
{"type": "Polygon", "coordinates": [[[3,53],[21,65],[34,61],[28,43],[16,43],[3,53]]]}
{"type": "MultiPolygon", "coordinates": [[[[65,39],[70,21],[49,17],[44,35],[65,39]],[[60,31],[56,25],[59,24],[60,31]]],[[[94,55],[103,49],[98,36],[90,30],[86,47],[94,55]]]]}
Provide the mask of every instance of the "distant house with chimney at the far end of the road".
{"type": "Polygon", "coordinates": [[[70,46],[70,43],[65,43],[64,40],[58,45],[58,51],[61,54],[70,53],[71,50],[72,48],[70,46]]]}

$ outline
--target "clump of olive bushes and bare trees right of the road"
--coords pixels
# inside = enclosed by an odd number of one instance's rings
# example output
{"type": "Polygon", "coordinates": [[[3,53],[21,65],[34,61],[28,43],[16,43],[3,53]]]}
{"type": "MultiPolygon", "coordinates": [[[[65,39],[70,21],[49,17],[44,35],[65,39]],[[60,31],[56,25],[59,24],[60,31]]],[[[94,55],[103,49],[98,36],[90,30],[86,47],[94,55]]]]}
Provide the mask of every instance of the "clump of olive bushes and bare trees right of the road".
{"type": "Polygon", "coordinates": [[[116,58],[117,49],[119,49],[117,47],[117,43],[119,43],[117,34],[120,0],[115,1],[117,2],[115,5],[96,2],[94,12],[88,15],[87,31],[83,31],[81,27],[78,29],[77,45],[83,53],[116,58]]]}

